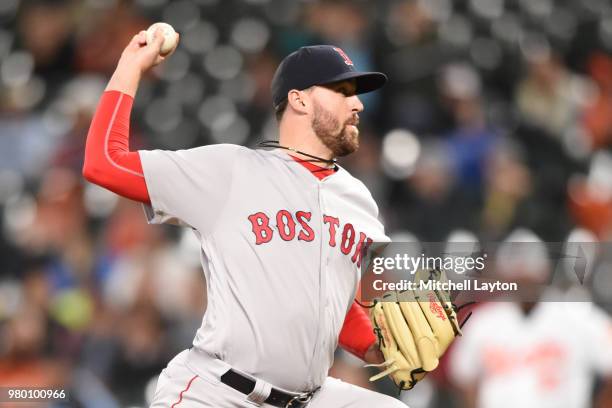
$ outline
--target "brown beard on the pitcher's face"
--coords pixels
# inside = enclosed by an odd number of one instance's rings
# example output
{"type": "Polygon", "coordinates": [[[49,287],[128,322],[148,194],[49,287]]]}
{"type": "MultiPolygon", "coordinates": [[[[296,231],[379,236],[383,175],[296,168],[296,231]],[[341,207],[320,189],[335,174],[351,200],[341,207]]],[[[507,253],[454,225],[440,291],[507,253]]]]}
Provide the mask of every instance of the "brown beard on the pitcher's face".
{"type": "Polygon", "coordinates": [[[334,157],[347,156],[359,149],[359,130],[351,121],[340,123],[332,113],[315,102],[312,129],[334,157]]]}

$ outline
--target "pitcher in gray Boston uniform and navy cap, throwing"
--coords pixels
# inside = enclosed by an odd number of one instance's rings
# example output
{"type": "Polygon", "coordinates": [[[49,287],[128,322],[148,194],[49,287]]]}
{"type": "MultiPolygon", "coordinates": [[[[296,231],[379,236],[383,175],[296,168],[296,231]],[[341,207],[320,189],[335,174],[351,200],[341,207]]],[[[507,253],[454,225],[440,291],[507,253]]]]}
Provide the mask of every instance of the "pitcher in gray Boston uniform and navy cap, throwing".
{"type": "MultiPolygon", "coordinates": [[[[92,122],[84,176],[146,203],[151,223],[192,228],[208,306],[193,347],[161,373],[153,407],[402,407],[327,376],[362,249],[387,241],[368,189],[334,158],[358,148],[357,94],[381,87],[333,46],[287,56],[272,83],[276,149],[131,152],[140,77],[161,36],[127,46],[92,122]]],[[[366,360],[376,361],[371,350],[366,360]]],[[[380,361],[377,361],[380,362],[380,361]]]]}

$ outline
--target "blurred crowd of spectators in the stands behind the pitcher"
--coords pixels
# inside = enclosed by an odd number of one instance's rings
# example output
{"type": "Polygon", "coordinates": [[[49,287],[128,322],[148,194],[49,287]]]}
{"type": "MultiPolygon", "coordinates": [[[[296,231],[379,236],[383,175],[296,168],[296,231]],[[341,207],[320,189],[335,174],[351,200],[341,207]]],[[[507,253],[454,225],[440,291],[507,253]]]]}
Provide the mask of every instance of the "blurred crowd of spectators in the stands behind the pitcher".
{"type": "MultiPolygon", "coordinates": [[[[341,164],[390,235],[612,240],[608,0],[3,0],[0,384],[144,406],[200,325],[190,232],[148,226],[140,206],[81,177],[105,83],[155,21],[181,44],[142,82],[132,150],[273,139],[278,62],[329,43],[389,76],[362,97],[361,148],[341,164]]],[[[359,365],[339,352],[332,372],[372,387],[359,365]]],[[[433,394],[412,406],[459,406],[433,394]]]]}

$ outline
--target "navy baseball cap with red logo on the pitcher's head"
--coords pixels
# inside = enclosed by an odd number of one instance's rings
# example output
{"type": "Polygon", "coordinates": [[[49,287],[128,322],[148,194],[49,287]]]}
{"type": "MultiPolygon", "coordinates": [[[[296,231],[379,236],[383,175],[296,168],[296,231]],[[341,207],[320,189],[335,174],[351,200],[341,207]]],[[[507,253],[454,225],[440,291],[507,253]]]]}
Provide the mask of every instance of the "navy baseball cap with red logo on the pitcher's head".
{"type": "Polygon", "coordinates": [[[387,82],[381,72],[360,72],[353,61],[333,45],[301,47],[287,55],[272,78],[272,104],[276,109],[292,89],[303,90],[314,85],[354,79],[356,93],[374,91],[387,82]]]}

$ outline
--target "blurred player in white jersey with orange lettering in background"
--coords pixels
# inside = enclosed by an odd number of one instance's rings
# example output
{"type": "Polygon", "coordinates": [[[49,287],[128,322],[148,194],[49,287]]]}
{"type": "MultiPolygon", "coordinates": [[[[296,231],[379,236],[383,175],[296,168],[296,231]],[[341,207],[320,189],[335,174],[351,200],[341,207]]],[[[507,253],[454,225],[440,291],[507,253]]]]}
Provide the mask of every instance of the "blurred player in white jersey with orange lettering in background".
{"type": "MultiPolygon", "coordinates": [[[[533,233],[515,232],[500,252],[514,255],[498,259],[501,275],[522,282],[547,280],[546,248],[533,233]],[[511,254],[517,242],[528,242],[524,248],[529,254],[511,254]]],[[[610,389],[609,317],[591,303],[560,302],[560,296],[553,298],[550,292],[548,298],[537,303],[499,301],[474,310],[450,355],[449,373],[463,390],[466,407],[590,407],[597,374],[610,389]]]]}

